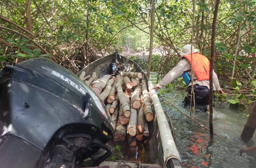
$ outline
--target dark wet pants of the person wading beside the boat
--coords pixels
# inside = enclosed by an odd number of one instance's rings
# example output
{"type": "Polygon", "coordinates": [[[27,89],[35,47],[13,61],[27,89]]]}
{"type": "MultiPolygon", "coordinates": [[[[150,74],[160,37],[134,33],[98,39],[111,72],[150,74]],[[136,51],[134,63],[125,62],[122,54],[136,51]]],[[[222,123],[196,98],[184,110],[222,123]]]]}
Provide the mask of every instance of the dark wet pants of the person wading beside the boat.
{"type": "MultiPolygon", "coordinates": [[[[191,102],[191,90],[192,86],[188,86],[187,91],[188,94],[186,95],[184,99],[184,107],[189,108],[190,102],[191,102]]],[[[209,104],[209,98],[210,98],[210,89],[208,89],[207,86],[200,86],[198,84],[194,85],[194,93],[195,93],[195,105],[202,105],[206,106],[209,104]]],[[[193,107],[193,96],[192,96],[192,107],[193,107]]]]}

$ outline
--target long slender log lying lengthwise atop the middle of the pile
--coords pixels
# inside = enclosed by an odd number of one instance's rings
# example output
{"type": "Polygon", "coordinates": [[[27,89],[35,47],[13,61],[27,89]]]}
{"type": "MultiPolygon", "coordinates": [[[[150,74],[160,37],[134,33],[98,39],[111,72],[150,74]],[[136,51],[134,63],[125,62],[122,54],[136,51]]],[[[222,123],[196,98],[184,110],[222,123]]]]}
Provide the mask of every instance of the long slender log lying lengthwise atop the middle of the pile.
{"type": "Polygon", "coordinates": [[[123,90],[122,90],[122,80],[120,76],[117,75],[117,97],[120,102],[120,108],[123,110],[123,113],[126,117],[129,117],[131,115],[130,112],[130,107],[128,106],[127,101],[125,100],[125,97],[123,95],[123,90]],[[130,114],[130,115],[129,115],[130,114]]]}

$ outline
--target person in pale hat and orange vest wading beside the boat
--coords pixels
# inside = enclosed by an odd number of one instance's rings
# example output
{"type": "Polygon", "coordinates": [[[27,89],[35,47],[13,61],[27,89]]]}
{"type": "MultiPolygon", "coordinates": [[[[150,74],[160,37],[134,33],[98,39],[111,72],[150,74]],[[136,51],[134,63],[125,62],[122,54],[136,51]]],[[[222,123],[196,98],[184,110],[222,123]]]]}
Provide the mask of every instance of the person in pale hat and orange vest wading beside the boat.
{"type": "MultiPolygon", "coordinates": [[[[157,91],[159,88],[164,87],[165,85],[169,84],[174,79],[182,75],[184,81],[188,86],[187,87],[188,94],[184,99],[184,107],[185,108],[190,107],[192,82],[193,82],[194,93],[195,93],[195,105],[202,105],[202,106],[208,105],[209,98],[210,98],[209,96],[210,95],[210,82],[209,82],[210,62],[208,58],[206,58],[204,55],[198,54],[197,52],[198,50],[194,49],[194,46],[192,46],[193,64],[191,64],[191,45],[186,44],[185,46],[183,46],[182,52],[180,53],[180,55],[182,56],[180,62],[177,64],[176,67],[170,70],[157,85],[155,85],[151,89],[155,89],[157,91]],[[195,74],[193,81],[191,80],[191,65],[192,65],[193,72],[195,74]]],[[[220,88],[217,74],[214,71],[213,71],[213,87],[214,87],[214,91],[217,91],[221,94],[225,94],[220,88]]]]}

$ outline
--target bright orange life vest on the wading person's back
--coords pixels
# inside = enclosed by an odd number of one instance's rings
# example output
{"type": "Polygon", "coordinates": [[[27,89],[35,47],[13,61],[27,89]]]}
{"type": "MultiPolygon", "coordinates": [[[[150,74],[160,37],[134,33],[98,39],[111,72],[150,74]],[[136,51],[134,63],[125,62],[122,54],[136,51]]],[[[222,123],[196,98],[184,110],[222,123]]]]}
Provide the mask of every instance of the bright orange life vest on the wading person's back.
{"type": "MultiPolygon", "coordinates": [[[[191,64],[191,54],[187,54],[183,56],[187,60],[189,60],[191,64]]],[[[193,64],[192,69],[194,70],[195,76],[198,81],[209,80],[210,79],[210,62],[208,58],[204,55],[193,53],[193,64]]]]}

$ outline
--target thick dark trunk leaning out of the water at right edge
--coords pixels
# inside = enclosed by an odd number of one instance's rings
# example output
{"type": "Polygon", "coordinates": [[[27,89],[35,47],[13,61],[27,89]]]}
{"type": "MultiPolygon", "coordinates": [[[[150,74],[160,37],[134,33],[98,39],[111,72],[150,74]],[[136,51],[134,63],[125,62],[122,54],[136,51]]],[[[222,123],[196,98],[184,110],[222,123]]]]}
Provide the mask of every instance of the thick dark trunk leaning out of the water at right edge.
{"type": "Polygon", "coordinates": [[[241,134],[241,139],[244,142],[247,142],[248,140],[250,140],[254,134],[255,129],[256,129],[256,103],[254,102],[253,107],[251,109],[251,113],[248,117],[248,120],[241,134]]]}

